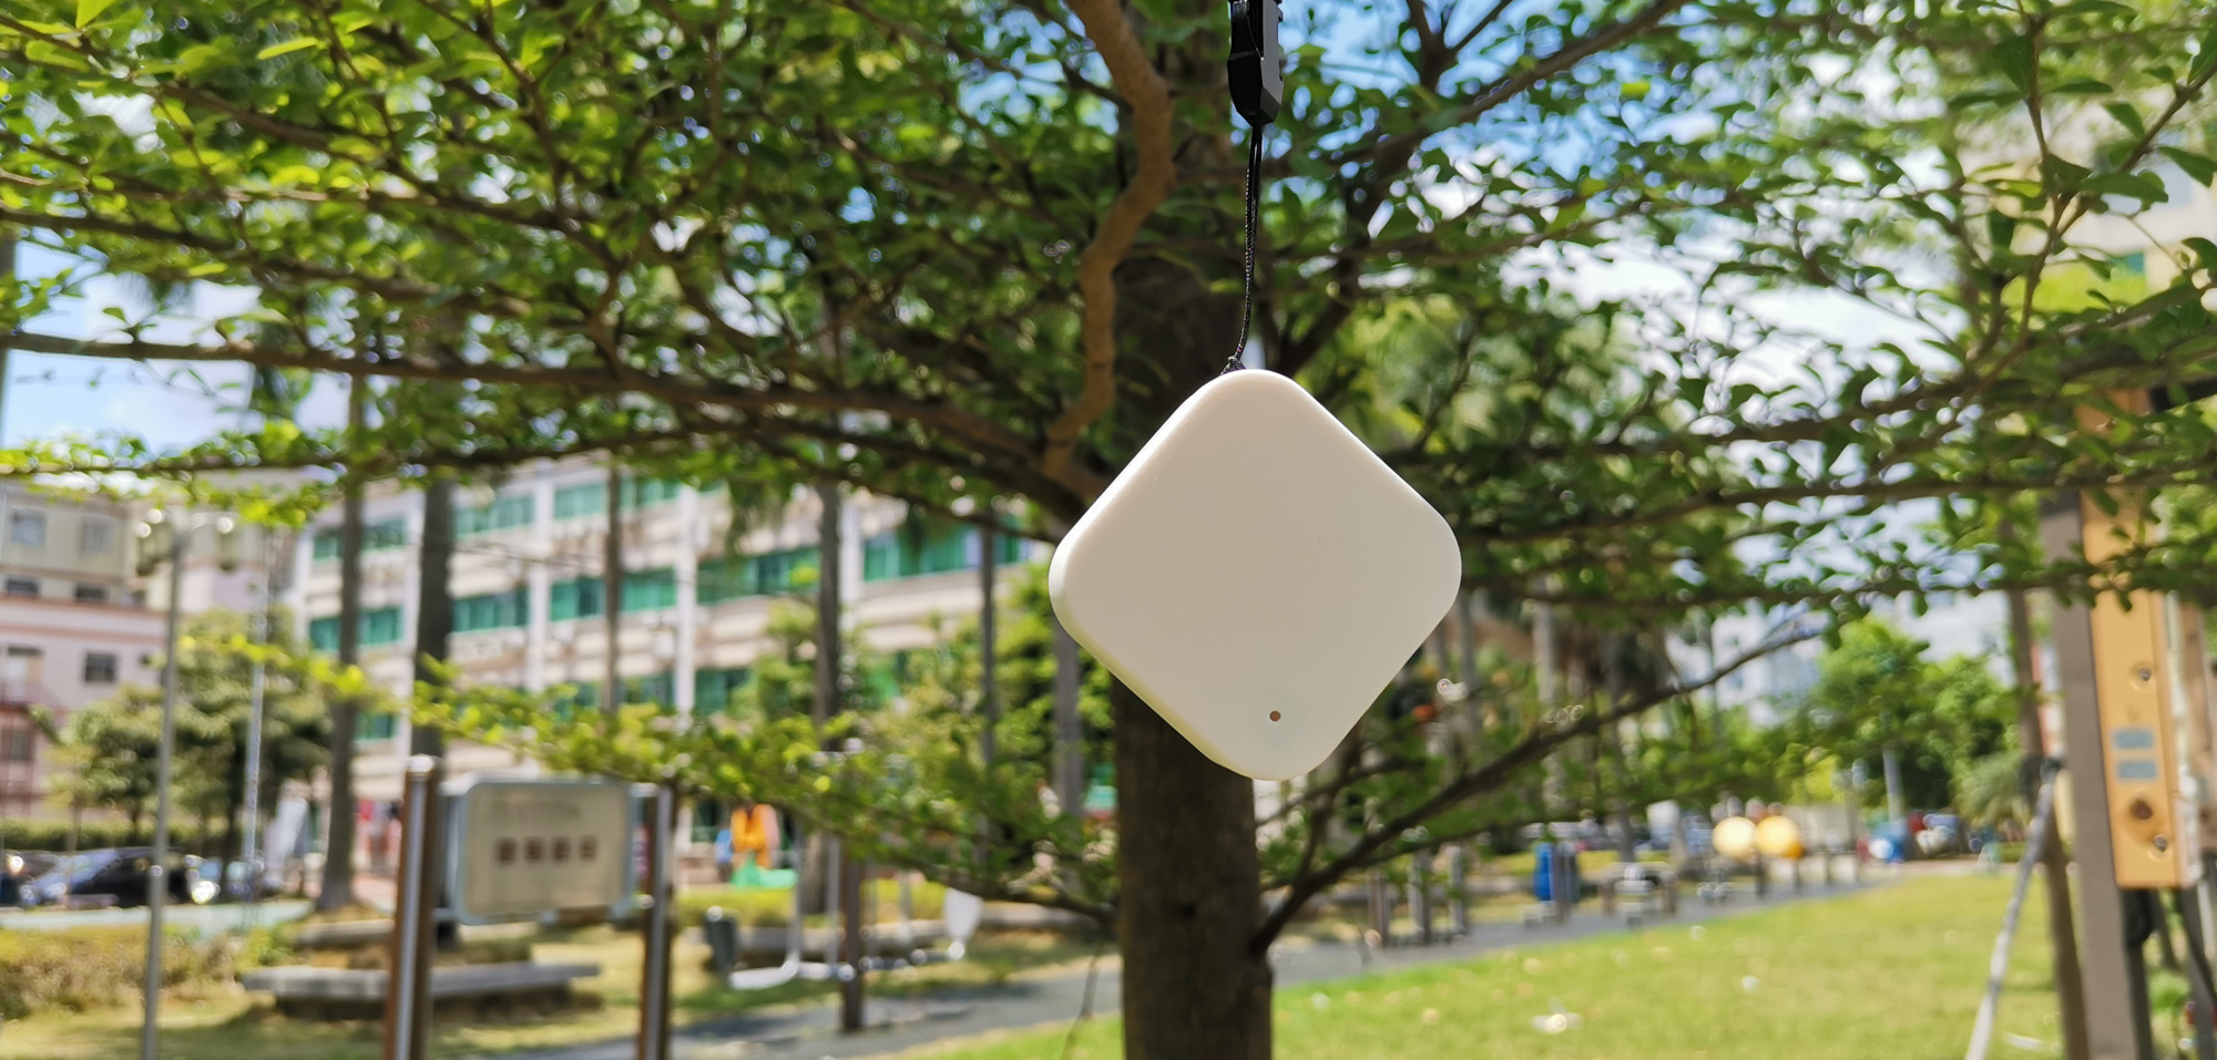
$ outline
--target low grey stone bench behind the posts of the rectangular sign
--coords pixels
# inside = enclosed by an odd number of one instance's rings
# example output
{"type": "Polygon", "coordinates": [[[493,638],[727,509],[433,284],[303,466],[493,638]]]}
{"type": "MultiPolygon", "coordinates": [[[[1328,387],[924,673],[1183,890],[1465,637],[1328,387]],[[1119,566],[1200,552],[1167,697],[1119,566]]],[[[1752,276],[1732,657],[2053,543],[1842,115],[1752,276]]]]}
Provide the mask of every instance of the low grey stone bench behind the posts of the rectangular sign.
{"type": "MultiPolygon", "coordinates": [[[[599,965],[452,965],[430,971],[432,1007],[552,1011],[570,1005],[570,985],[601,974],[599,965]]],[[[277,1011],[310,1020],[375,1020],[386,1011],[386,974],[366,969],[273,967],[239,976],[268,993],[277,1011]]]]}

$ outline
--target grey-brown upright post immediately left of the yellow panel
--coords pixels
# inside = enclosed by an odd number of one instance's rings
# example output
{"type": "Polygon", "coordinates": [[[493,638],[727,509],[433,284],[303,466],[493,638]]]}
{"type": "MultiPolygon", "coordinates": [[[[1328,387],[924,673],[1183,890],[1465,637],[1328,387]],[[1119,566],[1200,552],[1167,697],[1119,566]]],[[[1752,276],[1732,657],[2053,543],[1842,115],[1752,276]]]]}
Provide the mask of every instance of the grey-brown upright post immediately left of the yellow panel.
{"type": "MultiPolygon", "coordinates": [[[[2080,499],[2057,495],[2042,506],[2040,543],[2051,557],[2082,548],[2080,499]]],[[[2084,898],[2086,1044],[2093,1060],[2153,1060],[2148,1033],[2146,969],[2139,942],[2126,938],[2126,903],[2137,896],[2117,887],[2115,840],[2111,838],[2108,785],[2104,783],[2102,716],[2093,656],[2093,610],[2057,599],[2055,674],[2064,699],[2064,754],[2068,756],[2073,854],[2084,898]]]]}

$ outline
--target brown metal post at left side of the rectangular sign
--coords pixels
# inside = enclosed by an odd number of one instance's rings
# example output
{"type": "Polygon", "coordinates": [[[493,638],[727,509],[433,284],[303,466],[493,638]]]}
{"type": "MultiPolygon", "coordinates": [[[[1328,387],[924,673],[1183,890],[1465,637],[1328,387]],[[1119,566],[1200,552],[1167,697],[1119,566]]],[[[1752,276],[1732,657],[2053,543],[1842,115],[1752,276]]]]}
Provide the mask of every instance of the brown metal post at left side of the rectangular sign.
{"type": "Polygon", "coordinates": [[[408,758],[401,789],[401,863],[395,880],[392,942],[386,960],[386,1053],[384,1060],[430,1056],[430,965],[439,920],[439,867],[443,863],[441,792],[446,763],[430,754],[408,758]]]}

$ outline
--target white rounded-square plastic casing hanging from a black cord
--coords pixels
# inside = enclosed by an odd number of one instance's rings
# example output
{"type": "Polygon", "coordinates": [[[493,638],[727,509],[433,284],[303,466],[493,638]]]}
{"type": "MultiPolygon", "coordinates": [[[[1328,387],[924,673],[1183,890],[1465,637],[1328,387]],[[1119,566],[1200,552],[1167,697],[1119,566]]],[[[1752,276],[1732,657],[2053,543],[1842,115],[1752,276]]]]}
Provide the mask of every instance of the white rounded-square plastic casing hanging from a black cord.
{"type": "Polygon", "coordinates": [[[1055,548],[1071,636],[1202,754],[1315,769],[1454,603],[1448,521],[1277,373],[1195,390],[1055,548]]]}

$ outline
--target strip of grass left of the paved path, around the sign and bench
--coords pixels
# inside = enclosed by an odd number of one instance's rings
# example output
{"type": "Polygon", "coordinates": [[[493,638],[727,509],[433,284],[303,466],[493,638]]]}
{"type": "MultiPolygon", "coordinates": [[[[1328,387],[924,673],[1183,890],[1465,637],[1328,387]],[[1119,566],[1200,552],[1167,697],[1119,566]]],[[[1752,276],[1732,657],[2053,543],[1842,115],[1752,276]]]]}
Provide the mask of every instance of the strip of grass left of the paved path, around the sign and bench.
{"type": "MultiPolygon", "coordinates": [[[[971,942],[969,958],[953,965],[891,971],[871,978],[878,996],[916,996],[933,989],[1002,982],[1029,969],[1071,965],[1082,969],[1093,954],[1084,940],[1049,934],[987,934],[971,942]]],[[[585,927],[548,934],[532,945],[541,962],[601,965],[601,976],[583,980],[581,993],[599,1005],[556,1016],[530,1016],[499,1022],[435,1022],[435,1056],[486,1056],[517,1049],[545,1049],[630,1036],[638,1027],[641,942],[636,934],[610,927],[585,927]]],[[[703,969],[707,947],[676,947],[676,1013],[683,1027],[694,1020],[767,1009],[776,1005],[818,1002],[836,993],[831,982],[789,982],[778,989],[736,993],[714,982],[703,969]]],[[[9,1020],[0,1029],[0,1060],[106,1060],[135,1056],[137,1009],[102,1009],[86,1013],[40,1013],[9,1020]]],[[[375,1022],[328,1025],[288,1020],[237,987],[173,996],[162,1009],[164,1060],[375,1060],[379,1029],[375,1022]]]]}

